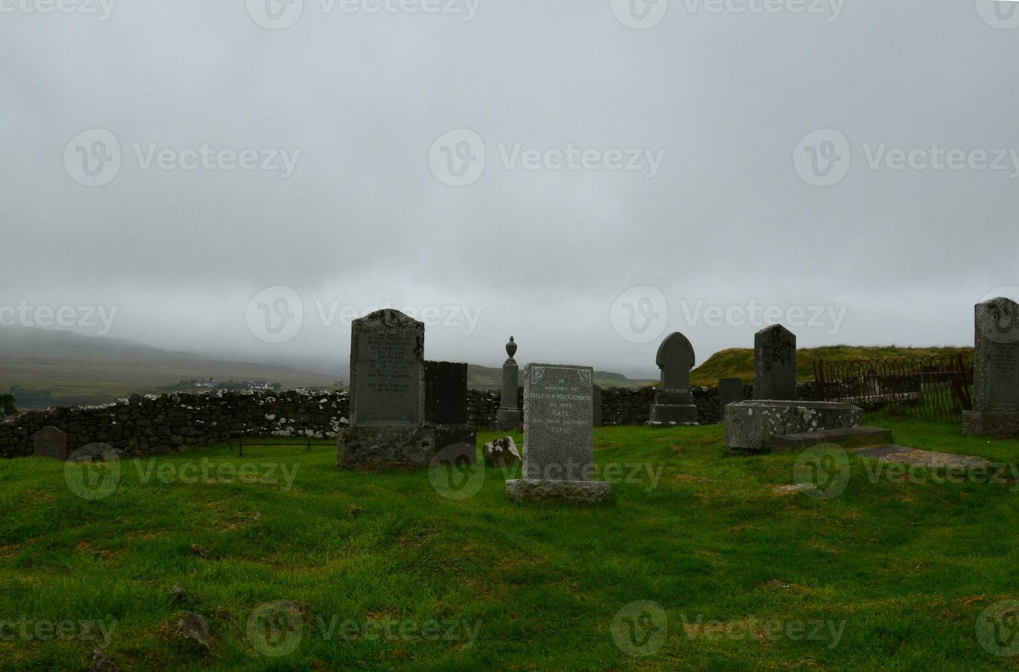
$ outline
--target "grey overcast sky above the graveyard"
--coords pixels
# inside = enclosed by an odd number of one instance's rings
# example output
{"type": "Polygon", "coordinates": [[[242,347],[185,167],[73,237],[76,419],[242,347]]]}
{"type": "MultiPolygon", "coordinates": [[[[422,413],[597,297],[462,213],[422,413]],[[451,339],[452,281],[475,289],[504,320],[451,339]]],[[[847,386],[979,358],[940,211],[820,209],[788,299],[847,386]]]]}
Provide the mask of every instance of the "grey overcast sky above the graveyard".
{"type": "Polygon", "coordinates": [[[61,1],[0,0],[35,325],[325,366],[410,307],[429,359],[649,375],[674,330],[966,345],[1019,299],[1019,3],[61,1]]]}

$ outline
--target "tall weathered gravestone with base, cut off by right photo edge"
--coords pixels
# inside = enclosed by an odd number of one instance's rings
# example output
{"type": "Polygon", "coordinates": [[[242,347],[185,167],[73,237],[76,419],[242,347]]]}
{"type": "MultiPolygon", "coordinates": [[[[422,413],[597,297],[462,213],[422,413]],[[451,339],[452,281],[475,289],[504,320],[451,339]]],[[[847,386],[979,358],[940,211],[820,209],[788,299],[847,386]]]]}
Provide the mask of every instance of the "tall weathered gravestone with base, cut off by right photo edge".
{"type": "Polygon", "coordinates": [[[975,307],[973,410],[963,433],[1019,435],[1019,305],[998,298],[975,307]]]}

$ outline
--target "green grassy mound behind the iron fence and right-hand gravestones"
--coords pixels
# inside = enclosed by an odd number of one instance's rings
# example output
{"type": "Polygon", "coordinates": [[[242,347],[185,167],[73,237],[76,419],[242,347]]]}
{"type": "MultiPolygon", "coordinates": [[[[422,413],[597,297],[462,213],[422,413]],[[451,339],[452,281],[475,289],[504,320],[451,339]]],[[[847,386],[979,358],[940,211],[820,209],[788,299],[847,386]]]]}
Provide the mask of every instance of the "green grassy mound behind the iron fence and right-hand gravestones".
{"type": "MultiPolygon", "coordinates": [[[[896,346],[827,346],[805,348],[796,352],[796,374],[800,381],[814,379],[814,362],[818,359],[842,361],[849,359],[889,359],[892,357],[929,357],[932,355],[972,354],[972,348],[898,348],[896,346]]],[[[730,348],[711,357],[690,373],[690,383],[714,385],[719,378],[740,378],[754,381],[754,351],[730,348]]]]}

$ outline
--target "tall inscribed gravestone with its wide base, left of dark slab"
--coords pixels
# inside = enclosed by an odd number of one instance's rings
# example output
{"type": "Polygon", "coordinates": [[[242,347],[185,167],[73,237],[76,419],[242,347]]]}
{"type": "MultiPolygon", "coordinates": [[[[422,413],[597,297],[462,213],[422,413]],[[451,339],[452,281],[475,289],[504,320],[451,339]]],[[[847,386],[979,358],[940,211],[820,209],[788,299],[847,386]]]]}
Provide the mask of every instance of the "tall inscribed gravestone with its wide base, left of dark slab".
{"type": "MultiPolygon", "coordinates": [[[[351,327],[351,426],[336,442],[336,463],[343,468],[382,465],[425,467],[443,450],[447,434],[432,417],[454,410],[451,367],[438,366],[433,403],[426,413],[425,325],[397,310],[379,310],[351,327]],[[443,380],[445,382],[443,382],[443,380]]],[[[465,378],[466,384],[466,378],[465,378]]],[[[463,393],[466,399],[466,391],[463,393]]],[[[465,453],[467,448],[464,448],[465,453]]],[[[473,456],[475,451],[470,451],[473,456]]]]}

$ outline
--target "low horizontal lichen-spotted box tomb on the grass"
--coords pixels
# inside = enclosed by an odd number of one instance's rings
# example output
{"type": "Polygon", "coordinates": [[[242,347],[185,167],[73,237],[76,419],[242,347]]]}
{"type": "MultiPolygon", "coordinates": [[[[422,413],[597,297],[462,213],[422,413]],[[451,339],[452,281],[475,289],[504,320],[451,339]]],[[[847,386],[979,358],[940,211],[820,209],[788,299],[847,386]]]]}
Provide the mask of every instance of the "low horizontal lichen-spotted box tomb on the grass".
{"type": "Polygon", "coordinates": [[[847,429],[863,424],[863,409],[834,402],[754,401],[725,410],[726,446],[753,453],[771,450],[771,436],[847,429]]]}

